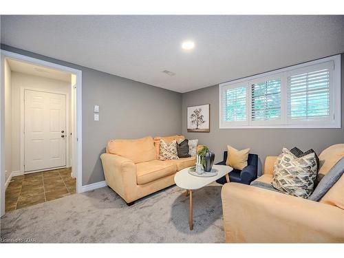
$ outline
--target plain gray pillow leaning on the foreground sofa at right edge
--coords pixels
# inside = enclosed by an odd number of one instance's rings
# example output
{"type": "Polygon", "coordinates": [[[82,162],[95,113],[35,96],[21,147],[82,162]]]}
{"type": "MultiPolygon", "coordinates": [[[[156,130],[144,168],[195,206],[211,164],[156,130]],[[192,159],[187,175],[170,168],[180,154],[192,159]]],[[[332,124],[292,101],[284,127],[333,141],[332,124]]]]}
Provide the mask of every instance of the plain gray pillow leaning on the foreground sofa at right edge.
{"type": "Polygon", "coordinates": [[[324,175],[323,179],[319,182],[318,186],[316,186],[316,189],[310,195],[308,200],[312,200],[315,202],[318,202],[327,191],[331,189],[334,184],[341,178],[341,176],[344,173],[344,158],[341,158],[334,166],[332,166],[332,169],[328,171],[326,175],[324,175]]]}

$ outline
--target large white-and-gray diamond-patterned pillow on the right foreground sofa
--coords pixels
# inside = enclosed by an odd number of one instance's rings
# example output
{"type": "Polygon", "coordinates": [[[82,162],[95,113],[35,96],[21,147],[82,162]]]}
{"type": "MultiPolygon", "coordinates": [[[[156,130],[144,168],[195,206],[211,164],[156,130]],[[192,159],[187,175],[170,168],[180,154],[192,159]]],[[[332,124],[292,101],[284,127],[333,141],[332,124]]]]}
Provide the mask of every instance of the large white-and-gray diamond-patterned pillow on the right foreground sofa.
{"type": "Polygon", "coordinates": [[[283,148],[277,158],[272,174],[271,185],[281,193],[307,199],[314,190],[316,161],[314,153],[297,158],[283,148]]]}

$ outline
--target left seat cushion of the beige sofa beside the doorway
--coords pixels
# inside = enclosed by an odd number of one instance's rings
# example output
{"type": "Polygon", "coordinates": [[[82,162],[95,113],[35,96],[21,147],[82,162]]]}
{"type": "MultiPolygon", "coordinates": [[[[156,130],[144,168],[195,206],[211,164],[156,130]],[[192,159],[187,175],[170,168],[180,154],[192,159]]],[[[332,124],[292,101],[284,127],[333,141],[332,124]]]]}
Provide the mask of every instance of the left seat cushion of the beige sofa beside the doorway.
{"type": "Polygon", "coordinates": [[[175,173],[177,168],[169,161],[151,160],[136,164],[138,184],[147,184],[175,173]]]}

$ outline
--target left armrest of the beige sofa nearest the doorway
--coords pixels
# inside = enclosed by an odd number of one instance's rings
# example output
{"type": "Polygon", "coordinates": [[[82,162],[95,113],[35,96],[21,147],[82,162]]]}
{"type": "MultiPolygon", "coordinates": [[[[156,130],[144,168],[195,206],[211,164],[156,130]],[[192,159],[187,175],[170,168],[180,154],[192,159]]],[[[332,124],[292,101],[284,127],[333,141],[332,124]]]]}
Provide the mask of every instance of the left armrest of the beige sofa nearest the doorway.
{"type": "Polygon", "coordinates": [[[103,163],[107,185],[126,202],[132,202],[137,185],[136,164],[127,158],[110,153],[103,153],[100,159],[103,163]]]}

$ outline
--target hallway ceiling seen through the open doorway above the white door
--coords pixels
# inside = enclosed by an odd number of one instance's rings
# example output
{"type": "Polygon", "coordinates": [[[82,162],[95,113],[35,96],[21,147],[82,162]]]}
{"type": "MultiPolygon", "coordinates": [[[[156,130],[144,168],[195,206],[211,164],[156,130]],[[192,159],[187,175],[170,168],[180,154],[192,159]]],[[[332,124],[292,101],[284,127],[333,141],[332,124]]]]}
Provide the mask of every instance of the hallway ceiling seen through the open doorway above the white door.
{"type": "Polygon", "coordinates": [[[63,80],[68,83],[71,82],[71,74],[50,67],[43,67],[41,65],[34,65],[32,63],[25,63],[14,59],[8,59],[8,65],[10,65],[12,72],[21,72],[23,74],[30,74],[34,76],[40,76],[45,78],[51,78],[54,80],[63,80]]]}

